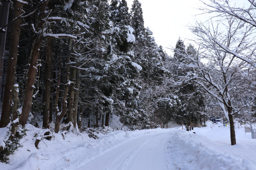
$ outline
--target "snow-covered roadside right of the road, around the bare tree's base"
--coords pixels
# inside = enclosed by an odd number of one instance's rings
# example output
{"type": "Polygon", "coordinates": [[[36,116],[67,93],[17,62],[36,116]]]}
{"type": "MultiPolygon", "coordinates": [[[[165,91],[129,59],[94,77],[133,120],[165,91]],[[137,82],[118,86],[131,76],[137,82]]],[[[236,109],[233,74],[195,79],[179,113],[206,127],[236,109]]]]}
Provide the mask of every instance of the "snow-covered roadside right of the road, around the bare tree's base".
{"type": "Polygon", "coordinates": [[[236,128],[236,145],[230,145],[229,127],[179,130],[169,140],[166,159],[178,170],[256,170],[256,139],[236,128]]]}

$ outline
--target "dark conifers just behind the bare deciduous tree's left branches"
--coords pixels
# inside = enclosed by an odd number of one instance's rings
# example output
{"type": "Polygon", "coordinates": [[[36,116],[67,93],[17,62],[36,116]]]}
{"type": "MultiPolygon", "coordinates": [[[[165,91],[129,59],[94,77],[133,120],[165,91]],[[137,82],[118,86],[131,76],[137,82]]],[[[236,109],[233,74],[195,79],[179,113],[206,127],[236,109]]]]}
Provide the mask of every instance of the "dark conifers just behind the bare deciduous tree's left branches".
{"type": "Polygon", "coordinates": [[[182,65],[192,65],[193,63],[183,57],[184,54],[195,58],[197,54],[195,48],[189,44],[185,49],[185,45],[181,39],[176,43],[174,54],[173,73],[175,80],[183,82],[177,87],[177,95],[179,96],[181,107],[177,111],[177,123],[201,122],[201,114],[205,109],[204,90],[195,82],[188,81],[192,74],[196,74],[196,70],[191,67],[182,67],[182,65]]]}

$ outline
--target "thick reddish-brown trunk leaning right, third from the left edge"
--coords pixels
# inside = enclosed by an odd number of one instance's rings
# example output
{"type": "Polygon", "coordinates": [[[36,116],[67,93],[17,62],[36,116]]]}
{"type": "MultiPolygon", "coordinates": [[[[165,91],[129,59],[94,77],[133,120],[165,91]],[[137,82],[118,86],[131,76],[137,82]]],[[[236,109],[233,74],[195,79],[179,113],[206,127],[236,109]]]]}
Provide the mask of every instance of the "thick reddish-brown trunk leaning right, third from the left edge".
{"type": "MultiPolygon", "coordinates": [[[[40,14],[38,17],[38,26],[36,31],[43,30],[44,23],[46,22],[45,18],[45,8],[47,7],[49,1],[46,1],[43,3],[40,7],[40,14]]],[[[33,44],[32,52],[31,52],[31,59],[30,59],[30,65],[29,65],[29,71],[28,71],[28,77],[27,77],[27,83],[26,83],[26,90],[25,90],[25,96],[24,96],[24,103],[22,108],[22,113],[20,115],[20,125],[25,126],[26,122],[29,117],[29,112],[31,111],[32,106],[32,98],[33,98],[33,91],[34,91],[34,84],[35,84],[35,75],[37,71],[37,64],[38,64],[38,55],[40,52],[40,46],[41,46],[41,40],[42,40],[43,32],[41,32],[40,35],[37,35],[35,37],[35,42],[33,44]]]]}

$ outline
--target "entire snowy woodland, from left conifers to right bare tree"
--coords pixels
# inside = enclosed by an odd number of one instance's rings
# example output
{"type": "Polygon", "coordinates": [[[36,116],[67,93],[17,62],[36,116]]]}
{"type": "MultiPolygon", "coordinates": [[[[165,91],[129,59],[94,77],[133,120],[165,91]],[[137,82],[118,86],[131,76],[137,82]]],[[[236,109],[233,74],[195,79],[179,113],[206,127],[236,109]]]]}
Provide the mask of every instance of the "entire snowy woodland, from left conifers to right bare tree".
{"type": "Polygon", "coordinates": [[[107,127],[111,115],[131,130],[224,115],[236,144],[233,115],[254,115],[256,5],[225,2],[205,4],[222,22],[191,26],[193,45],[179,39],[169,56],[138,0],[131,10],[125,0],[1,0],[0,155],[20,146],[26,123],[58,133],[107,127]]]}

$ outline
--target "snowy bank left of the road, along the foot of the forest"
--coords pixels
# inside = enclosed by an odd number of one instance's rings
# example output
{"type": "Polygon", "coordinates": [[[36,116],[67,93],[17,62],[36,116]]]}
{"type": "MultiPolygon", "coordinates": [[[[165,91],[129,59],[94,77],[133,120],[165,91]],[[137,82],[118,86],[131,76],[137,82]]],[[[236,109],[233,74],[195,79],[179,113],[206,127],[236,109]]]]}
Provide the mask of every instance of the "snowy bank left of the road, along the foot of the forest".
{"type": "Polygon", "coordinates": [[[99,139],[96,140],[89,138],[87,133],[76,135],[68,132],[65,139],[61,133],[53,133],[54,137],[51,141],[41,141],[38,145],[39,149],[36,149],[34,136],[41,129],[30,124],[26,125],[26,129],[28,129],[27,135],[21,141],[24,142],[23,147],[9,156],[9,164],[0,163],[0,170],[73,170],[84,161],[139,136],[174,130],[161,128],[128,132],[114,130],[108,131],[107,135],[99,133],[99,139]]]}

